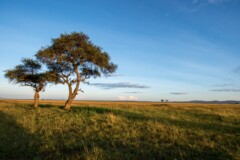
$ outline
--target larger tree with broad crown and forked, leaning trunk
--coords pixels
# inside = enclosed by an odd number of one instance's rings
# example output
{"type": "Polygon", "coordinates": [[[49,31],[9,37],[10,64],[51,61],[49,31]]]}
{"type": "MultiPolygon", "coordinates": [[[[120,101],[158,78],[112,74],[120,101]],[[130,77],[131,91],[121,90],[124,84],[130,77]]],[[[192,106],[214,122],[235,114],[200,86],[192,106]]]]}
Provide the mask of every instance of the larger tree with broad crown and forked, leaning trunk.
{"type": "Polygon", "coordinates": [[[70,109],[81,82],[87,83],[87,79],[100,77],[102,74],[109,76],[117,69],[110,62],[109,55],[82,32],[61,34],[59,38],[52,39],[50,46],[39,50],[36,57],[54,73],[56,84],[68,85],[65,109],[70,109]]]}

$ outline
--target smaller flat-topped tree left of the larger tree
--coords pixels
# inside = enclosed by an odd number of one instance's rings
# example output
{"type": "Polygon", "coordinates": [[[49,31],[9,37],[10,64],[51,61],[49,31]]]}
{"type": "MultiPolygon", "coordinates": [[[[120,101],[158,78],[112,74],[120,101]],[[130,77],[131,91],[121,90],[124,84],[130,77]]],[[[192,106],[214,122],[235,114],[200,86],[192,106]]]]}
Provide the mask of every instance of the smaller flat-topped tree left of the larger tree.
{"type": "Polygon", "coordinates": [[[34,89],[34,107],[38,107],[39,92],[44,90],[49,78],[49,72],[40,72],[40,69],[41,64],[37,60],[24,58],[22,64],[5,71],[5,77],[10,82],[34,89]]]}

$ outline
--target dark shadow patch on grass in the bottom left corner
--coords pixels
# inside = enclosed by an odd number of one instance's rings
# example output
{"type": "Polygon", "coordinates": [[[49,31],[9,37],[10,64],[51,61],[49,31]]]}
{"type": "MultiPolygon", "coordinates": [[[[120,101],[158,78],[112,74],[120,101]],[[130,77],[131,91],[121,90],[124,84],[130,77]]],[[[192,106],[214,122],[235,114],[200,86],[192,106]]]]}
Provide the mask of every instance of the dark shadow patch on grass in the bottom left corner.
{"type": "Polygon", "coordinates": [[[0,112],[0,159],[32,159],[38,150],[34,141],[13,116],[0,112]]]}

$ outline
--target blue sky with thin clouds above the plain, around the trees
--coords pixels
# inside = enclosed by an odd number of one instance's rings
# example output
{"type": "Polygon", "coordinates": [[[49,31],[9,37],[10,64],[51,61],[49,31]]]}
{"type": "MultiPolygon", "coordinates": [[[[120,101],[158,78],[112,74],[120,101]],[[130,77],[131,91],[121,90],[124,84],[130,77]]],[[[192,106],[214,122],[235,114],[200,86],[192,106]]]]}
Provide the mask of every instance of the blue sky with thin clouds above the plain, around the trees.
{"type": "MultiPolygon", "coordinates": [[[[240,100],[239,0],[0,0],[0,97],[33,98],[4,71],[83,32],[118,69],[77,100],[240,100]]],[[[41,99],[67,99],[49,84],[41,99]]]]}

